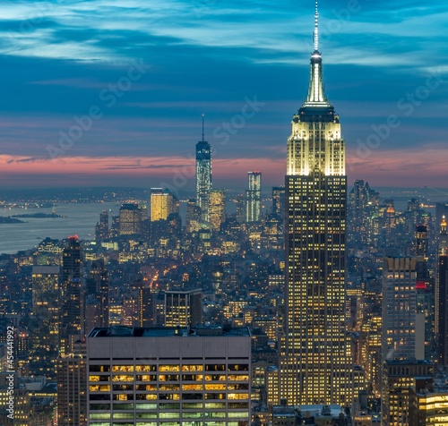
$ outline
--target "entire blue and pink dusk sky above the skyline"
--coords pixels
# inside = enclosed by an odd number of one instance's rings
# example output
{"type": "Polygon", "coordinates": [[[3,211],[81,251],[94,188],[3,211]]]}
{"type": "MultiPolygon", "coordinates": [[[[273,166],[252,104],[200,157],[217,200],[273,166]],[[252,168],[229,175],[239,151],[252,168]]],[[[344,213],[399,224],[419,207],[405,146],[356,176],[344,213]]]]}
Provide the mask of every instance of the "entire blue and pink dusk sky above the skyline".
{"type": "MultiPolygon", "coordinates": [[[[0,186],[284,183],[306,98],[313,0],[8,1],[0,16],[0,186]]],[[[448,187],[448,3],[320,0],[326,95],[349,183],[448,187]]]]}

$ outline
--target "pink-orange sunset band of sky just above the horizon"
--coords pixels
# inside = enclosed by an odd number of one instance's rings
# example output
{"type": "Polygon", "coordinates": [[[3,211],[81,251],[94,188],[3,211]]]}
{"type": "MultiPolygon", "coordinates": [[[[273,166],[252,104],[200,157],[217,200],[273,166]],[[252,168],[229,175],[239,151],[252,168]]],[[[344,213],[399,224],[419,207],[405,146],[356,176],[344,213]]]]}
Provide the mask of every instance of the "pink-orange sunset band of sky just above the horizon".
{"type": "MultiPolygon", "coordinates": [[[[375,150],[368,158],[350,155],[347,158],[349,183],[352,179],[370,180],[377,186],[421,186],[432,184],[448,187],[446,167],[448,148],[415,150],[375,150]]],[[[0,155],[0,179],[4,182],[32,176],[39,184],[39,176],[74,176],[86,178],[160,178],[164,184],[193,183],[194,159],[176,157],[76,157],[76,158],[26,158],[0,155]]],[[[286,173],[286,158],[214,158],[213,179],[240,181],[246,185],[248,171],[260,170],[264,182],[282,183],[286,173]]],[[[76,184],[76,182],[73,182],[76,184]]],[[[267,184],[266,184],[267,186],[267,184]]]]}

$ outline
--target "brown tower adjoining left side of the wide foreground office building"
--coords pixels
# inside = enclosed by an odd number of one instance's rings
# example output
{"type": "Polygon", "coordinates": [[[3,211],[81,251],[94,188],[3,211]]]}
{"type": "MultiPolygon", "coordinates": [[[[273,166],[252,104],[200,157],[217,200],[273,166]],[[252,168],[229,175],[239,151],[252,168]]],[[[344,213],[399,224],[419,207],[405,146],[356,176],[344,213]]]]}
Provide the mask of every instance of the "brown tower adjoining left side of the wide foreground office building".
{"type": "MultiPolygon", "coordinates": [[[[95,328],[94,328],[95,329],[95,328]]],[[[110,384],[108,384],[110,388],[110,384]]],[[[57,425],[87,424],[86,345],[77,341],[73,354],[63,355],[57,365],[57,425]]]]}

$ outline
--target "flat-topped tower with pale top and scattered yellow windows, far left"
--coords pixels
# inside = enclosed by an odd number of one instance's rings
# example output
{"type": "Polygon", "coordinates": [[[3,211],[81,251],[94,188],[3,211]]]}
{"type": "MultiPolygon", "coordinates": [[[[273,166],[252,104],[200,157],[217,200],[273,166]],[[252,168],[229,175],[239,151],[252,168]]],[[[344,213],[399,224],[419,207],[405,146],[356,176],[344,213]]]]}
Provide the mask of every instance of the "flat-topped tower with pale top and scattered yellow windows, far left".
{"type": "Polygon", "coordinates": [[[59,266],[33,266],[30,373],[55,377],[59,355],[59,266]]]}

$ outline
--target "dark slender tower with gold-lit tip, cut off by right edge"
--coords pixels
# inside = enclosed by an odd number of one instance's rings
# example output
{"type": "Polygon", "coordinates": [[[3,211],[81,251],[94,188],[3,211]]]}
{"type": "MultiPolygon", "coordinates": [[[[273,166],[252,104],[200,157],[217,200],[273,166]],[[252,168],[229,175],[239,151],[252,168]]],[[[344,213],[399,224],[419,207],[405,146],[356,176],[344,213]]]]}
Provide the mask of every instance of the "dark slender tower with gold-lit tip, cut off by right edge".
{"type": "Polygon", "coordinates": [[[437,281],[435,285],[435,339],[437,359],[440,365],[448,366],[448,234],[446,219],[440,224],[437,250],[437,281]]]}

